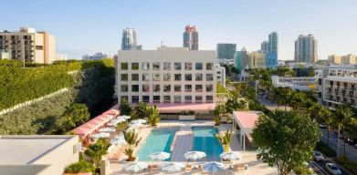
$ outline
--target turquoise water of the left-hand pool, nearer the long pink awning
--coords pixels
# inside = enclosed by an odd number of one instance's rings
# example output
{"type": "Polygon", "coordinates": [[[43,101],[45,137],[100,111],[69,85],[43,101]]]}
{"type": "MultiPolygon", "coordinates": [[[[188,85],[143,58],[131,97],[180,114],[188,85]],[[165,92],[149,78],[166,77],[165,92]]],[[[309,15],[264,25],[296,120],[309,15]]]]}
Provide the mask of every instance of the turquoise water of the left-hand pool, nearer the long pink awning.
{"type": "MultiPolygon", "coordinates": [[[[136,154],[138,160],[150,161],[149,155],[154,152],[170,152],[176,129],[152,129],[149,136],[136,154]]],[[[170,160],[170,159],[167,159],[170,160]]]]}

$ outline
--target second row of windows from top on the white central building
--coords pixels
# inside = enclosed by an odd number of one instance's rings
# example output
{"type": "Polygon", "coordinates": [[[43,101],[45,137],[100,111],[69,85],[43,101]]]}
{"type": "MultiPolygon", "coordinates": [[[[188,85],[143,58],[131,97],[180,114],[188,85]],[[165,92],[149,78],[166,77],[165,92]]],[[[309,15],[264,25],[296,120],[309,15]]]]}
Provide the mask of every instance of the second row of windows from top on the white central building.
{"type": "MultiPolygon", "coordinates": [[[[142,81],[150,81],[151,74],[142,74],[142,81]]],[[[174,81],[181,81],[183,75],[182,74],[173,74],[174,81]]],[[[152,74],[153,81],[160,81],[161,74],[152,74]]],[[[203,74],[194,74],[195,81],[202,81],[204,79],[203,74]]],[[[121,74],[121,81],[128,81],[129,77],[128,74],[121,74]]],[[[193,75],[192,74],[184,74],[185,81],[192,81],[193,75]]],[[[213,81],[214,75],[213,74],[205,74],[206,81],[213,81]]],[[[139,74],[131,74],[131,81],[139,81],[139,74]]],[[[171,81],[171,74],[163,74],[163,81],[171,81]]]]}

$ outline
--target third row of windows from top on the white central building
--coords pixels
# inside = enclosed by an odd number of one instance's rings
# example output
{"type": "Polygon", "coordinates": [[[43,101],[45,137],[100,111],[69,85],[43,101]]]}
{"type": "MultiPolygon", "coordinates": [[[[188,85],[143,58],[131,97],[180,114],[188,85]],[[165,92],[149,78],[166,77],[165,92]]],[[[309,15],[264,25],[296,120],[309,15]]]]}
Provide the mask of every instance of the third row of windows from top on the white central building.
{"type": "MultiPolygon", "coordinates": [[[[204,89],[203,85],[184,85],[184,92],[192,92],[194,87],[195,92],[202,92],[204,89]]],[[[140,91],[139,85],[131,85],[131,92],[139,92],[140,91]]],[[[150,85],[142,85],[142,92],[151,92],[150,85]]],[[[129,86],[128,85],[121,85],[121,92],[128,92],[129,86]]],[[[152,85],[152,92],[171,92],[172,85],[163,85],[163,88],[160,85],[152,85]]],[[[182,86],[181,85],[173,85],[173,92],[181,92],[182,86]]],[[[206,92],[213,92],[214,86],[213,85],[205,85],[206,92]]]]}

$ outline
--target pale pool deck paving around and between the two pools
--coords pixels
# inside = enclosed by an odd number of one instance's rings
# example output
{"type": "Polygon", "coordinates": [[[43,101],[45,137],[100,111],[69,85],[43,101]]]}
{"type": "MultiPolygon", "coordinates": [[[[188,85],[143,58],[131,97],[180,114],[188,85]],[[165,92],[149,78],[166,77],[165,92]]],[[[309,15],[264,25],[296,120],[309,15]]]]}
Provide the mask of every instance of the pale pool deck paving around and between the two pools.
{"type": "MultiPolygon", "coordinates": [[[[190,163],[192,164],[193,162],[187,162],[184,159],[184,153],[186,151],[189,151],[189,149],[192,148],[192,141],[190,142],[189,140],[193,140],[192,138],[189,139],[190,137],[193,137],[193,133],[191,131],[192,126],[214,126],[215,122],[214,121],[208,121],[208,120],[196,120],[196,121],[178,121],[178,120],[162,120],[159,124],[158,127],[180,127],[180,129],[176,132],[177,134],[184,135],[184,137],[178,137],[174,140],[174,149],[173,149],[173,160],[174,161],[181,161],[185,163],[190,163]],[[188,130],[189,129],[189,130],[188,130]],[[189,136],[192,135],[192,136],[189,136]],[[183,141],[181,144],[181,141],[183,141]],[[186,142],[186,143],[184,143],[186,142]],[[187,146],[191,145],[191,146],[187,146]],[[179,146],[175,148],[176,146],[179,146]]],[[[226,129],[231,129],[231,125],[229,124],[222,124],[219,127],[220,131],[225,131],[226,129]]],[[[145,140],[146,137],[149,135],[151,128],[148,126],[142,127],[139,130],[139,135],[142,137],[142,140],[145,140]]],[[[178,136],[180,136],[178,135],[178,136]]],[[[175,136],[177,137],[177,136],[175,136]]],[[[141,144],[135,149],[134,152],[137,152],[138,149],[140,149],[143,141],[141,141],[141,144]]],[[[253,150],[246,150],[245,152],[242,151],[241,146],[236,139],[236,137],[232,138],[232,143],[230,145],[230,149],[233,151],[239,151],[242,154],[243,159],[242,160],[234,160],[233,163],[243,163],[247,164],[248,169],[247,170],[239,170],[238,172],[232,172],[232,171],[227,171],[225,170],[223,174],[244,174],[244,175],[249,175],[249,174],[261,174],[261,175],[275,175],[278,174],[278,171],[275,170],[272,167],[269,167],[268,164],[264,163],[262,160],[257,160],[257,151],[253,150]]],[[[125,165],[125,159],[126,156],[123,156],[121,160],[111,160],[110,161],[110,170],[109,173],[110,175],[117,175],[117,174],[133,174],[133,173],[127,173],[122,171],[123,165],[125,165]]],[[[148,164],[161,164],[163,163],[162,161],[146,161],[148,164]]],[[[135,173],[135,174],[165,174],[161,172],[160,170],[156,170],[153,172],[142,172],[142,173],[135,173]]],[[[175,174],[202,174],[202,173],[197,173],[195,171],[184,171],[182,173],[175,173],[175,174]]],[[[216,173],[218,174],[218,173],[216,173]]]]}

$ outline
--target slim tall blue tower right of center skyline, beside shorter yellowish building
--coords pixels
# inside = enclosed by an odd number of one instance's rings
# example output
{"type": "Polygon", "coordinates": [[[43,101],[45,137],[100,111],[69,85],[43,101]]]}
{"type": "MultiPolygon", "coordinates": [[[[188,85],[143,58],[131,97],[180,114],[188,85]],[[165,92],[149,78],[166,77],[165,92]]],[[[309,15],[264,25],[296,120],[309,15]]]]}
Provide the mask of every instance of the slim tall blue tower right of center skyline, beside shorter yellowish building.
{"type": "Polygon", "coordinates": [[[278,33],[272,32],[268,36],[268,55],[266,59],[267,68],[278,66],[278,33]]]}

